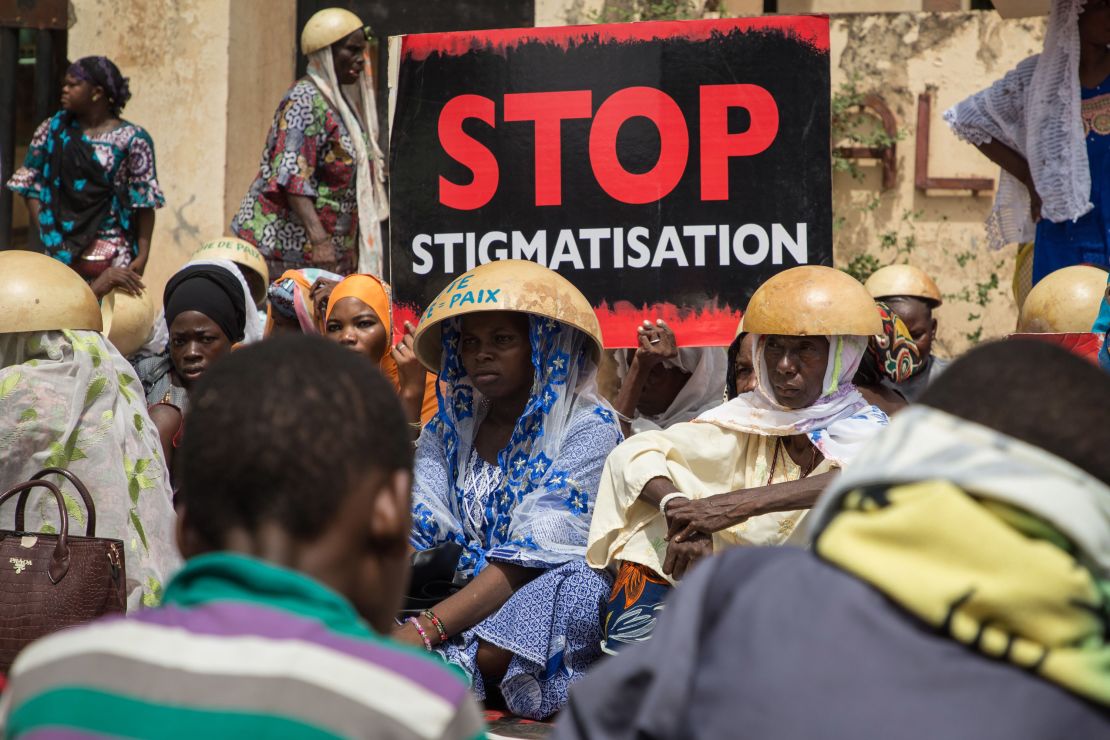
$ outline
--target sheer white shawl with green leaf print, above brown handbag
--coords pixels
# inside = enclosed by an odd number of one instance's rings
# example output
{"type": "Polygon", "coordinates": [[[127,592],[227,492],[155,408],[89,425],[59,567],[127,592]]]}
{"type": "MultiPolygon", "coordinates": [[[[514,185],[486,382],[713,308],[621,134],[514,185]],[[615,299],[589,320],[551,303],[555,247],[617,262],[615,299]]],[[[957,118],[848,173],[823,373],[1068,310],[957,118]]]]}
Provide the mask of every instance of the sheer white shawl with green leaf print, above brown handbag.
{"type": "MultiPolygon", "coordinates": [[[[99,332],[0,334],[0,488],[44,467],[64,467],[88,486],[97,536],[123,541],[128,609],[158,604],[181,565],[174,547],[170,480],[158,429],[135,372],[99,332]]],[[[85,511],[69,483],[71,531],[85,511]]],[[[0,527],[14,528],[14,505],[0,527]]],[[[29,531],[54,531],[52,498],[32,495],[29,531]]]]}

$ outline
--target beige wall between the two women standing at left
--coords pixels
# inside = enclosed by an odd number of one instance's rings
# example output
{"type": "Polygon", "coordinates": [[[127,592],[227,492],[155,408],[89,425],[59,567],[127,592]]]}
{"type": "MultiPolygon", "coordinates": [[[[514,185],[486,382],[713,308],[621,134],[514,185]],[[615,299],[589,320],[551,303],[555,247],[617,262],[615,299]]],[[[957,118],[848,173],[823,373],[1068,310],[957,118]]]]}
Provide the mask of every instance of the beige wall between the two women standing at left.
{"type": "Polygon", "coordinates": [[[147,284],[222,235],[293,79],[295,0],[74,0],[72,59],[110,57],[131,79],[124,118],[154,140],[165,207],[147,284]],[[265,123],[262,123],[262,122],[265,123]],[[249,174],[248,174],[249,173],[249,174]]]}

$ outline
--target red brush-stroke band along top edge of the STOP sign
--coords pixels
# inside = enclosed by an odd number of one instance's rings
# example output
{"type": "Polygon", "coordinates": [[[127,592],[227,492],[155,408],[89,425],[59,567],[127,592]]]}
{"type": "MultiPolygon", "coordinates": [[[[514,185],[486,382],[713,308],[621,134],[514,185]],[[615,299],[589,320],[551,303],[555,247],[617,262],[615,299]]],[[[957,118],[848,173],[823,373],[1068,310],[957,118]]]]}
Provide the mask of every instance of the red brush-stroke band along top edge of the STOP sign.
{"type": "Polygon", "coordinates": [[[494,51],[504,54],[522,43],[551,43],[563,49],[583,42],[627,43],[688,39],[705,41],[729,31],[769,31],[794,36],[818,51],[829,50],[828,16],[767,16],[764,18],[725,18],[702,21],[649,21],[609,23],[604,26],[557,26],[552,28],[501,29],[492,31],[454,31],[451,33],[415,33],[404,37],[402,57],[423,61],[433,53],[462,57],[471,51],[494,51]]]}

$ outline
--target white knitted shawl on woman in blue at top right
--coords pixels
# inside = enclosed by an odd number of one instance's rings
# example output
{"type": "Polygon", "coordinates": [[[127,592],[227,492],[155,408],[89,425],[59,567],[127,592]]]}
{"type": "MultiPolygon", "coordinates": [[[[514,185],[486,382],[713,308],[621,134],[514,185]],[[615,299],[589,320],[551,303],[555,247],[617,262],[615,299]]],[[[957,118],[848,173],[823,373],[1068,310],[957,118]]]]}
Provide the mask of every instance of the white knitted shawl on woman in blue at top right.
{"type": "MultiPolygon", "coordinates": [[[[945,111],[962,140],[980,145],[998,140],[1029,162],[1041,197],[1041,215],[1074,221],[1093,206],[1091,173],[1079,89],[1079,14],[1086,0],[1053,0],[1045,49],[991,87],[945,111]]],[[[987,220],[992,249],[1030,242],[1036,229],[1029,191],[1001,171],[987,220]]]]}

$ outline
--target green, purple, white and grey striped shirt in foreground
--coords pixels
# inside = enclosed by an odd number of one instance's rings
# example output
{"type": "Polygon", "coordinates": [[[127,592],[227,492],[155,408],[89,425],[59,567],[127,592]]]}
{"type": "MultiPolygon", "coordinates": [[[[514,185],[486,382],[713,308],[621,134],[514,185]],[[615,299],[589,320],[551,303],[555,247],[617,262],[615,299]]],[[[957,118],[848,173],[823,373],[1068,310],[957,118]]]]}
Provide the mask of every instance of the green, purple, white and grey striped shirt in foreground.
{"type": "Polygon", "coordinates": [[[461,671],[387,640],[335,591],[230,553],[190,559],[161,607],[20,653],[4,737],[484,737],[461,671]]]}

